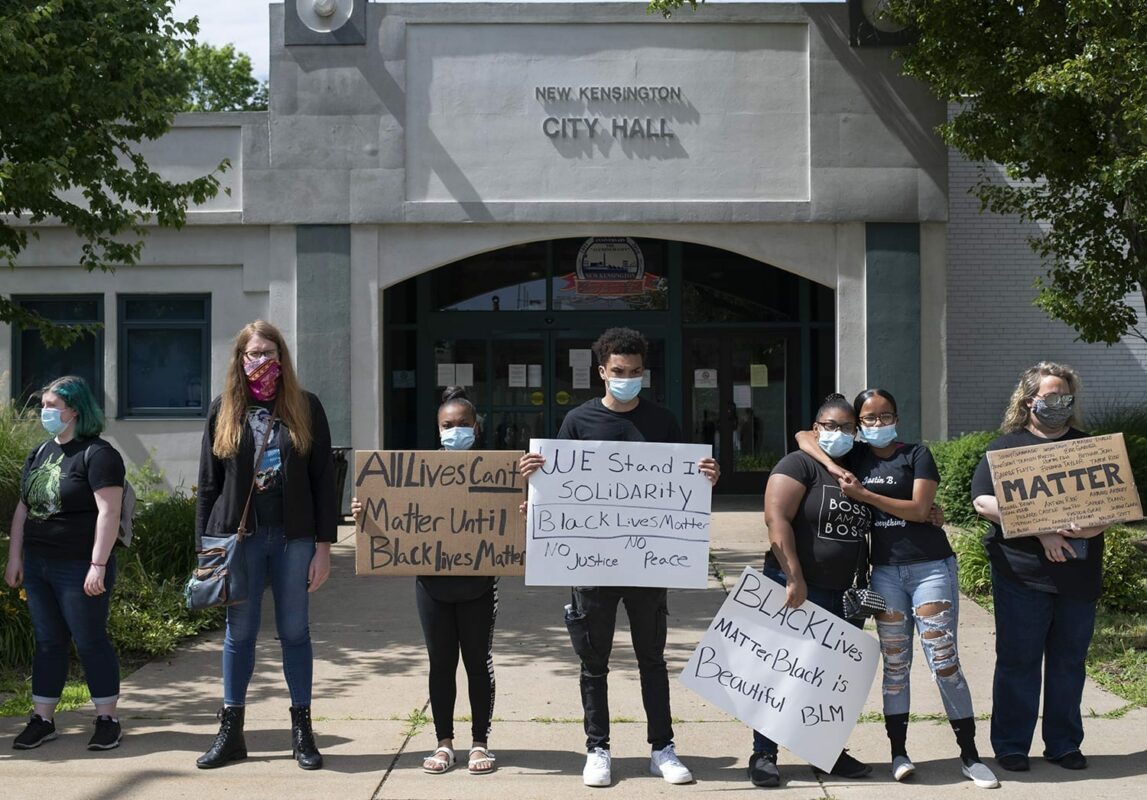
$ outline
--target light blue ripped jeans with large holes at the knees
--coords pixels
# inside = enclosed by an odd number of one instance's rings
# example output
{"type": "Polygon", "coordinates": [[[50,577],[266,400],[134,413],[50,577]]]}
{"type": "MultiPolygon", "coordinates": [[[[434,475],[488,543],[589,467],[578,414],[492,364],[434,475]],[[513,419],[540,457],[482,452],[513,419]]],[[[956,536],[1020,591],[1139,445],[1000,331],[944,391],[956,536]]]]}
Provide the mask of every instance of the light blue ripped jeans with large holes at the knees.
{"type": "Polygon", "coordinates": [[[920,644],[928,659],[933,679],[939,685],[947,719],[965,720],[973,716],[972,692],[963,678],[957,648],[960,587],[955,557],[919,564],[873,566],[872,588],[888,603],[888,611],[876,616],[880,651],[884,658],[881,688],[884,714],[908,713],[912,636],[914,631],[919,631],[920,644]]]}

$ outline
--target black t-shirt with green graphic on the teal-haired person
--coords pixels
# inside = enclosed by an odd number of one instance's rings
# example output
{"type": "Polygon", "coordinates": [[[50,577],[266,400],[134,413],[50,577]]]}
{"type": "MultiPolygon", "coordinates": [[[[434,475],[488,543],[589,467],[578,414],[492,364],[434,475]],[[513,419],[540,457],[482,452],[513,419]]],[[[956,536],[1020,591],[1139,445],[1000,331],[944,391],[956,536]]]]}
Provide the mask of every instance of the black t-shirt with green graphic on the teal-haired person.
{"type": "Polygon", "coordinates": [[[99,516],[94,492],[122,486],[124,459],[102,438],[65,444],[50,438],[38,445],[28,455],[21,480],[19,497],[28,507],[24,550],[39,558],[91,560],[99,516]]]}

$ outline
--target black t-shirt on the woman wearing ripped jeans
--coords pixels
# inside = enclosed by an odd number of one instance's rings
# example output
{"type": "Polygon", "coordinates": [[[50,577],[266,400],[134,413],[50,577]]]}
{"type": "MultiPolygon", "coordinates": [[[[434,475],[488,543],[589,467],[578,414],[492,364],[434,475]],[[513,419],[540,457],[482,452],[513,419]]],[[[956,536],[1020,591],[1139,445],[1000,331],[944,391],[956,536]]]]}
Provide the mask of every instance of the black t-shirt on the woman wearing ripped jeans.
{"type": "MultiPolygon", "coordinates": [[[[936,481],[939,471],[923,444],[897,442],[891,456],[881,458],[864,442],[844,457],[843,464],[874,495],[911,500],[915,481],[936,481]]],[[[872,562],[880,565],[937,561],[952,556],[943,528],[930,522],[910,522],[872,506],[872,562]]]]}

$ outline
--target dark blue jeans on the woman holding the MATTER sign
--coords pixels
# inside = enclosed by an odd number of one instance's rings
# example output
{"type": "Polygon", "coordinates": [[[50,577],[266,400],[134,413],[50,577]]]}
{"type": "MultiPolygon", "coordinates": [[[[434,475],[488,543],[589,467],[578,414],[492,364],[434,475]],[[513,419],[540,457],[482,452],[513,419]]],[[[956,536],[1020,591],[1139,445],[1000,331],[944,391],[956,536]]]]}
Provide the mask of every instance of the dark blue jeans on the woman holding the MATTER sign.
{"type": "Polygon", "coordinates": [[[992,749],[1028,754],[1044,689],[1044,755],[1058,759],[1083,744],[1084,662],[1095,604],[1029,589],[992,569],[996,677],[992,749]],[[1040,681],[1043,668],[1043,681],[1040,681]]]}

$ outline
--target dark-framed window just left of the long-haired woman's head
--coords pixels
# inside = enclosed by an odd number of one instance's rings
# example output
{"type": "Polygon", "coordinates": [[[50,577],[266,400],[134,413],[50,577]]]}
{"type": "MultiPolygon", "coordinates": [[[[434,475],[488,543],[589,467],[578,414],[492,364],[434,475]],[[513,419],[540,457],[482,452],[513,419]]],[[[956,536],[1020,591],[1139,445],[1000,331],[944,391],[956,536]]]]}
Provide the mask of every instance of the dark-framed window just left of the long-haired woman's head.
{"type": "Polygon", "coordinates": [[[119,417],[204,417],[211,298],[119,295],[119,417]]]}

